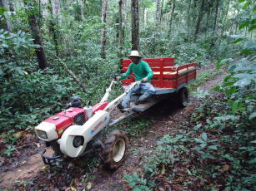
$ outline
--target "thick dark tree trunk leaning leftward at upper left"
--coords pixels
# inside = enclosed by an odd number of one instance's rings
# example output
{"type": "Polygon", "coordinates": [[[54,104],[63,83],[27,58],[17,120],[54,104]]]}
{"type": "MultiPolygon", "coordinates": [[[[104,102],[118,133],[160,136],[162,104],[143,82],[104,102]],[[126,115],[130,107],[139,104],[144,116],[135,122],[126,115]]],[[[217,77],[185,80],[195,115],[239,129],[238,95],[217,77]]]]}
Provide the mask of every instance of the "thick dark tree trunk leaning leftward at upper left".
{"type": "Polygon", "coordinates": [[[46,59],[46,56],[45,56],[45,53],[43,50],[43,43],[42,43],[41,37],[40,37],[40,30],[38,27],[38,22],[37,22],[37,19],[36,19],[36,16],[35,16],[33,10],[31,10],[33,7],[33,4],[28,0],[23,0],[23,2],[26,7],[29,7],[28,8],[28,24],[33,33],[34,44],[37,44],[40,46],[40,47],[36,48],[35,51],[36,51],[36,55],[38,57],[39,68],[43,70],[46,67],[48,67],[48,61],[46,59]]]}

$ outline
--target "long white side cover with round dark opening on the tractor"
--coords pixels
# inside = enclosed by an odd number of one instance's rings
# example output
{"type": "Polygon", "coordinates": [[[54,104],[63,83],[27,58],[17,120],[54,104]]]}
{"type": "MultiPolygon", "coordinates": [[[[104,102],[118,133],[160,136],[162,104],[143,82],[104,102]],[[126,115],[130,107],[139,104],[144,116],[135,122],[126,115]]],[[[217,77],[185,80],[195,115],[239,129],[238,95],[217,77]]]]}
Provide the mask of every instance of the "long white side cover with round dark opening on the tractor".
{"type": "Polygon", "coordinates": [[[84,125],[72,125],[64,131],[62,138],[58,140],[63,154],[75,158],[83,153],[86,145],[97,135],[100,130],[108,125],[110,116],[107,111],[98,110],[84,125]],[[83,136],[84,143],[78,148],[73,146],[73,139],[76,136],[83,136]]]}

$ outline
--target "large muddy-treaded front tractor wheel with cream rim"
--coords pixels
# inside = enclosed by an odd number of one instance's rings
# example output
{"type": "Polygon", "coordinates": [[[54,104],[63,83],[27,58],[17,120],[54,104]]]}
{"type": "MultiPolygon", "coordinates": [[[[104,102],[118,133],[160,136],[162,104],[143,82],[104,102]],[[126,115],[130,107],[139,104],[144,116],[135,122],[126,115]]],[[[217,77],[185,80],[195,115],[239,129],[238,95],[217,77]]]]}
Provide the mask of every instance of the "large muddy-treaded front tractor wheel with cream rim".
{"type": "Polygon", "coordinates": [[[128,137],[121,130],[113,130],[104,143],[101,154],[103,165],[107,169],[118,169],[123,163],[128,150],[128,137]]]}

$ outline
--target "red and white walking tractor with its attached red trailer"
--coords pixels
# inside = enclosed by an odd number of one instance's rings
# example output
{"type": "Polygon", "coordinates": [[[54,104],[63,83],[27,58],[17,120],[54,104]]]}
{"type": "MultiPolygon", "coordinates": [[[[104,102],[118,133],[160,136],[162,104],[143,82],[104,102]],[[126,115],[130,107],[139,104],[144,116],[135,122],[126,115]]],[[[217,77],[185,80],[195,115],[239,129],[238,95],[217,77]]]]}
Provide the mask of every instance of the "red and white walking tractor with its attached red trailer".
{"type": "MultiPolygon", "coordinates": [[[[134,81],[133,76],[122,81],[124,92],[112,101],[108,101],[108,96],[113,85],[117,83],[115,79],[107,88],[102,100],[93,107],[82,107],[80,100],[74,98],[68,104],[68,109],[49,117],[35,128],[38,138],[45,141],[55,152],[48,155],[46,150],[43,151],[41,155],[45,164],[53,166],[62,161],[63,157],[77,158],[98,151],[105,167],[118,169],[127,154],[128,137],[122,130],[113,130],[105,141],[102,141],[103,130],[134,113],[147,110],[164,97],[173,94],[180,105],[184,107],[188,104],[188,90],[185,86],[195,80],[198,63],[174,66],[173,58],[148,58],[143,61],[147,61],[153,70],[151,84],[156,90],[155,95],[138,105],[135,105],[134,101],[139,95],[133,95],[130,107],[122,110],[122,115],[117,119],[110,115],[111,112],[134,86],[142,83],[134,81]]],[[[123,60],[122,72],[128,70],[130,63],[130,60],[123,60]]]]}

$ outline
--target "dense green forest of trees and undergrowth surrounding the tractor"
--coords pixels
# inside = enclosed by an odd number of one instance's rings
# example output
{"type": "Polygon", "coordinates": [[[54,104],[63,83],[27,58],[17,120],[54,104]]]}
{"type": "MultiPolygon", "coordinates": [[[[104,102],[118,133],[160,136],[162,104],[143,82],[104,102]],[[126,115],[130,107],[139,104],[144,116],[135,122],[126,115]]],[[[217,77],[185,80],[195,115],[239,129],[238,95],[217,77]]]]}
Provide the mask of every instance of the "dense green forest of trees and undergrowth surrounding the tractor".
{"type": "Polygon", "coordinates": [[[254,0],[0,0],[0,190],[255,190],[255,12],[254,0]],[[90,156],[5,184],[39,152],[35,126],[72,96],[97,104],[132,50],[198,62],[184,117],[115,126],[127,131],[128,156],[139,156],[133,169],[108,174],[90,156]],[[152,147],[136,146],[157,126],[168,130],[152,147]]]}

